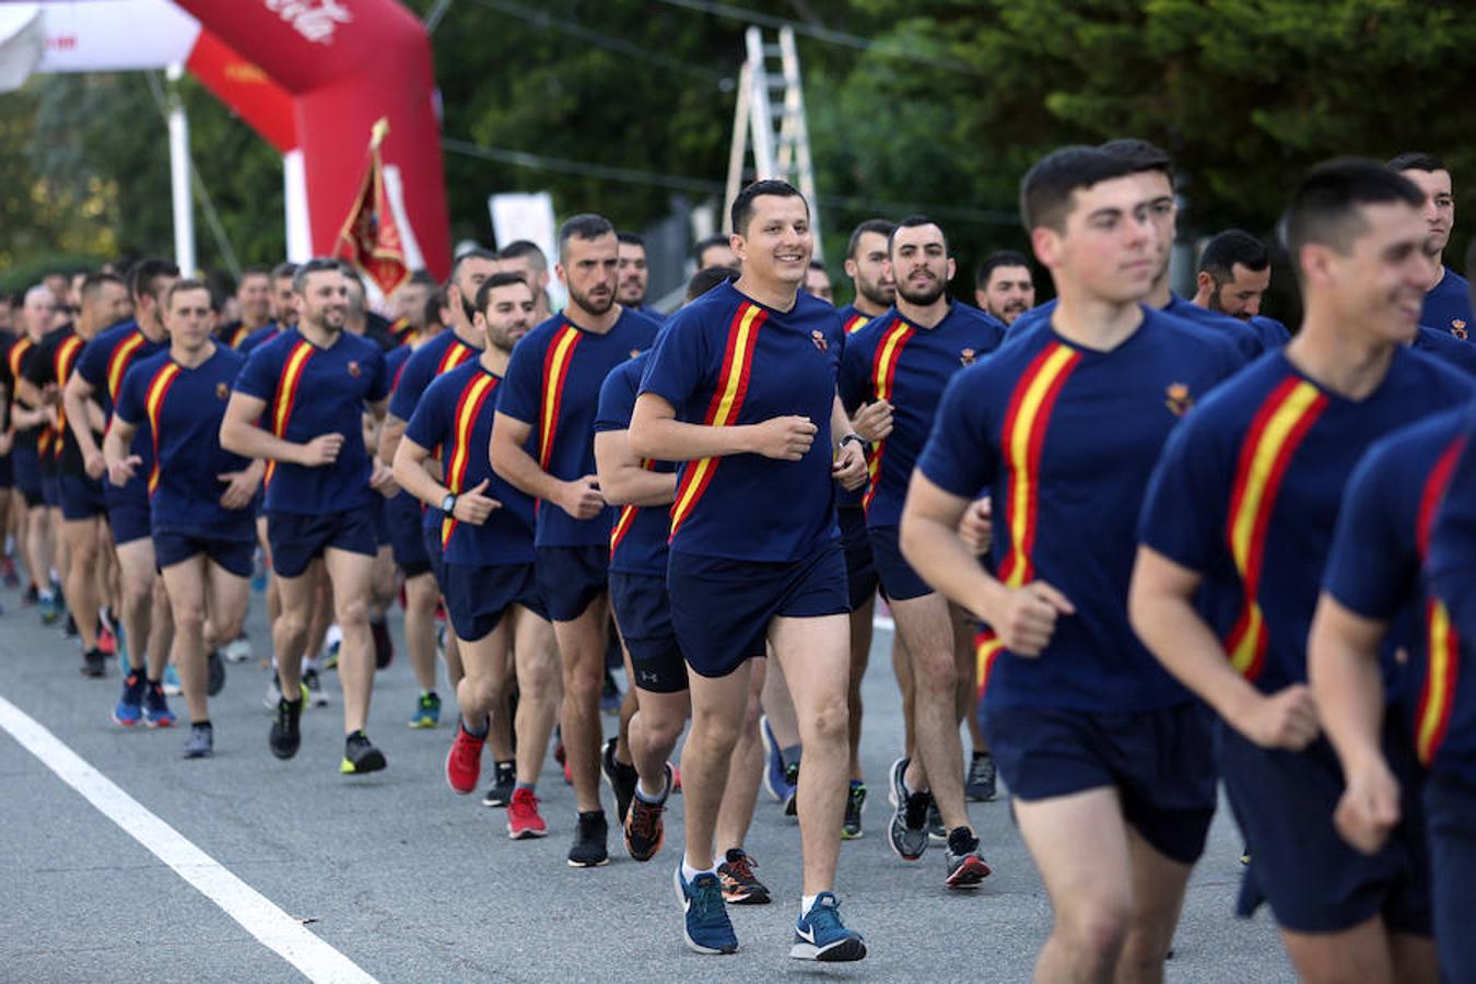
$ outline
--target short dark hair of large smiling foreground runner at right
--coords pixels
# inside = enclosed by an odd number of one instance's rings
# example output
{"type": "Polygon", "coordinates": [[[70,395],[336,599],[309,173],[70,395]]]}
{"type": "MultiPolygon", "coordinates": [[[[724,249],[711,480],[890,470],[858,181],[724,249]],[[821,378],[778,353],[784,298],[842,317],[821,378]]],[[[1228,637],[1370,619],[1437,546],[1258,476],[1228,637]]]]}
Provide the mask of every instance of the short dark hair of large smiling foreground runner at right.
{"type": "Polygon", "coordinates": [[[1346,254],[1368,229],[1359,208],[1399,202],[1418,208],[1424,195],[1414,181],[1377,161],[1339,158],[1312,168],[1281,217],[1281,235],[1297,277],[1302,246],[1317,243],[1346,254]]]}

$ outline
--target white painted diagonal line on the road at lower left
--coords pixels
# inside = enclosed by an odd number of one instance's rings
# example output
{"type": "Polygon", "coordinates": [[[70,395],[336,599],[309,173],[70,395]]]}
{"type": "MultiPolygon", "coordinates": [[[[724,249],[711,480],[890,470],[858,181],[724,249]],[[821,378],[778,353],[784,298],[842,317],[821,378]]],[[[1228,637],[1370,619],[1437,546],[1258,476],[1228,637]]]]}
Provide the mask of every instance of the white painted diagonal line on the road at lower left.
{"type": "Polygon", "coordinates": [[[301,922],[272,904],[266,895],[226,870],[215,859],[184,839],[179,831],[146,810],[93,769],[15,704],[0,696],[0,727],[21,746],[41,760],[62,782],[149,848],[174,873],[221,907],[255,937],[275,950],[310,981],[334,984],[375,984],[357,963],[308,932],[301,922]]]}

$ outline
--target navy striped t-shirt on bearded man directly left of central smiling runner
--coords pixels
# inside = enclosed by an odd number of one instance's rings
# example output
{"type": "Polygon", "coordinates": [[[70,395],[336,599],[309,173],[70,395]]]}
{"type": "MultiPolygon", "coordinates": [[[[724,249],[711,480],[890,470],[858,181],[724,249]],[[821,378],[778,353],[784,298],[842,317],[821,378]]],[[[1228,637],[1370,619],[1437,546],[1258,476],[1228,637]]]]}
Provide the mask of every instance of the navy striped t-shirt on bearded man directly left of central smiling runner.
{"type": "MultiPolygon", "coordinates": [[[[716,289],[716,288],[714,288],[716,289]]],[[[621,310],[599,335],[555,314],[524,335],[512,350],[497,412],[533,428],[534,460],[561,481],[595,474],[595,410],[610,370],[651,348],[661,326],[621,310]]],[[[540,547],[605,546],[610,509],[574,519],[554,503],[537,509],[540,547]]]]}

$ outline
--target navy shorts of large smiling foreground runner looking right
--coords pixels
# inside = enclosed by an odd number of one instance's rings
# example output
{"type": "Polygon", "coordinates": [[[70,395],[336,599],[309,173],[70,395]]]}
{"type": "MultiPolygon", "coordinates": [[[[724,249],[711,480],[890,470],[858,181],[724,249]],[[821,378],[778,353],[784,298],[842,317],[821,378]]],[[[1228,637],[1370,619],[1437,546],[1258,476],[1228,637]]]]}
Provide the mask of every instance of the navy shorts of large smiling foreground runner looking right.
{"type": "Polygon", "coordinates": [[[1430,860],[1420,779],[1402,727],[1384,729],[1384,755],[1399,779],[1399,826],[1373,857],[1333,826],[1343,773],[1325,738],[1306,751],[1265,749],[1219,724],[1219,764],[1250,867],[1237,912],[1271,903],[1293,932],[1339,932],[1383,915],[1393,932],[1430,934],[1430,860]],[[1398,738],[1398,741],[1389,741],[1398,738]]]}

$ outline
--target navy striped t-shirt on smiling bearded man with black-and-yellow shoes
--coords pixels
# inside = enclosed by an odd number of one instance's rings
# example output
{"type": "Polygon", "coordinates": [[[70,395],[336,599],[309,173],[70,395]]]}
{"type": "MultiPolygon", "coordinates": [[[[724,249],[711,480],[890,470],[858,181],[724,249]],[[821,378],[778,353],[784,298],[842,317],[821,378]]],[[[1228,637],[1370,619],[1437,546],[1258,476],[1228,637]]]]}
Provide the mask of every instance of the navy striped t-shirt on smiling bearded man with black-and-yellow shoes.
{"type": "Polygon", "coordinates": [[[267,462],[267,512],[345,512],[366,507],[379,494],[369,488],[363,434],[366,404],[390,392],[378,345],[345,332],[319,348],[294,328],[251,353],[235,388],[266,401],[260,425],[282,440],[306,444],[323,434],[344,437],[332,465],[267,462]]]}

